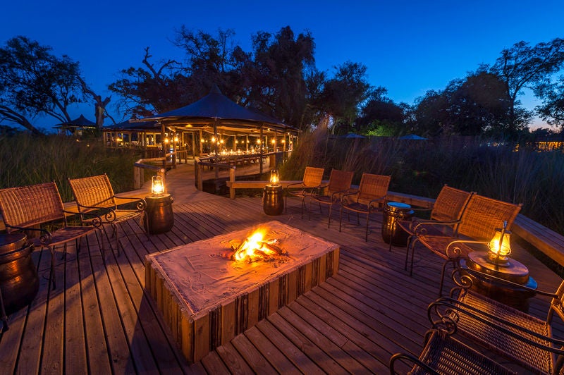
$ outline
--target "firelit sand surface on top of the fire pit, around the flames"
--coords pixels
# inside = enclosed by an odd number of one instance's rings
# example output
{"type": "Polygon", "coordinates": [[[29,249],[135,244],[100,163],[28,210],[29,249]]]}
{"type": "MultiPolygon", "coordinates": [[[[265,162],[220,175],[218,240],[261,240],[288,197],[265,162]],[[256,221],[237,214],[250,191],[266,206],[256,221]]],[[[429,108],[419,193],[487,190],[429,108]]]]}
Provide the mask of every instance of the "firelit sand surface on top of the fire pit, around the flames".
{"type": "Polygon", "coordinates": [[[171,291],[195,314],[252,290],[274,275],[307,264],[320,254],[338,248],[331,242],[314,238],[278,221],[271,221],[257,228],[239,230],[151,254],[147,261],[165,276],[171,291]],[[265,239],[277,239],[278,247],[288,252],[288,255],[276,257],[270,262],[252,263],[235,262],[222,256],[231,252],[233,240],[241,242],[257,228],[266,228],[265,239]]]}

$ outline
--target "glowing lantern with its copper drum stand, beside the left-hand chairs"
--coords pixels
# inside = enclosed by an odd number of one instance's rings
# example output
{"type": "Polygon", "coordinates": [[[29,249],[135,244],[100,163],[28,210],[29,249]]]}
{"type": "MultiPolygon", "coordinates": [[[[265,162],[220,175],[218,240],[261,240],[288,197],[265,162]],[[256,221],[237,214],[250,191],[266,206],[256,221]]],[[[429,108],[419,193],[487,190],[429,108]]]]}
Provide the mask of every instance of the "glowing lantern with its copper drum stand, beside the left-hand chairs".
{"type": "MultiPolygon", "coordinates": [[[[164,171],[163,171],[164,172],[164,171]]],[[[153,176],[151,182],[151,195],[145,197],[145,230],[150,234],[168,232],[174,225],[172,212],[173,199],[170,194],[164,193],[164,178],[153,176]]]]}

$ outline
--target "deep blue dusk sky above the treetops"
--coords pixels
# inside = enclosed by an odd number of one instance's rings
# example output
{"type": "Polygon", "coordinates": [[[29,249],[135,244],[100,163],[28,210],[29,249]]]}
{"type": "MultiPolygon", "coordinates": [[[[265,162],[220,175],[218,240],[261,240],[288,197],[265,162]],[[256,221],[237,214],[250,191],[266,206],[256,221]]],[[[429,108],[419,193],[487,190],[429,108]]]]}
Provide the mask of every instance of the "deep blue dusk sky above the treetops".
{"type": "MultiPolygon", "coordinates": [[[[183,59],[171,43],[181,25],[214,36],[219,28],[233,29],[245,51],[257,31],[274,34],[287,25],[295,35],[309,31],[317,68],[331,76],[345,61],[363,63],[371,85],[386,87],[394,102],[407,104],[481,63],[493,64],[516,42],[564,37],[562,0],[32,0],[6,1],[0,8],[2,45],[25,35],[51,46],[54,54],[79,61],[102,97],[119,70],[141,66],[145,47],[154,61],[183,59]]],[[[521,99],[531,109],[537,104],[531,94],[521,99]]],[[[109,110],[121,119],[112,104],[109,110]]],[[[73,118],[80,113],[94,121],[93,105],[71,109],[73,118]]],[[[56,121],[32,123],[49,128],[56,121]]]]}

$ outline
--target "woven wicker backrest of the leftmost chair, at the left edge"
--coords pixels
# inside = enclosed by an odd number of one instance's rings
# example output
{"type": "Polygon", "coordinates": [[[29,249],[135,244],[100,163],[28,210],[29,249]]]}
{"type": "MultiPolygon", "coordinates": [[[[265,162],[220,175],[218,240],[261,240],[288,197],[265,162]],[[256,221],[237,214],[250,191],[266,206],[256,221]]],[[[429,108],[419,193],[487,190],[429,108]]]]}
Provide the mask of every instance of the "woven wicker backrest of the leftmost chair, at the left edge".
{"type": "Polygon", "coordinates": [[[66,223],[64,209],[54,182],[0,190],[0,211],[8,233],[15,230],[10,226],[30,228],[49,221],[66,223]]]}

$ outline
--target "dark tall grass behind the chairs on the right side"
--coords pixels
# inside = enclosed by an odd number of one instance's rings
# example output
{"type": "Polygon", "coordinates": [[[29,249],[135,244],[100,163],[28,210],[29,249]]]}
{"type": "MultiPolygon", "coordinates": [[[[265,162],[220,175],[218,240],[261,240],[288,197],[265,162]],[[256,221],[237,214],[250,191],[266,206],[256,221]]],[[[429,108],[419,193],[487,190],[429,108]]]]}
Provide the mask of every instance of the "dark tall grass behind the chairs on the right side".
{"type": "Polygon", "coordinates": [[[512,147],[488,147],[484,142],[347,140],[326,134],[305,135],[282,178],[299,179],[305,166],[391,175],[390,190],[436,197],[444,184],[505,202],[522,203],[521,213],[564,234],[564,154],[512,147]],[[326,142],[310,140],[326,137],[326,142]],[[315,149],[314,147],[317,147],[315,149]],[[326,158],[320,158],[325,154],[326,158]],[[297,156],[295,156],[297,155],[297,156]],[[292,174],[293,173],[293,174],[292,174]]]}

